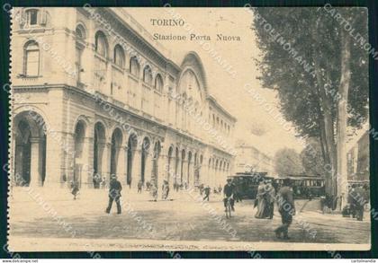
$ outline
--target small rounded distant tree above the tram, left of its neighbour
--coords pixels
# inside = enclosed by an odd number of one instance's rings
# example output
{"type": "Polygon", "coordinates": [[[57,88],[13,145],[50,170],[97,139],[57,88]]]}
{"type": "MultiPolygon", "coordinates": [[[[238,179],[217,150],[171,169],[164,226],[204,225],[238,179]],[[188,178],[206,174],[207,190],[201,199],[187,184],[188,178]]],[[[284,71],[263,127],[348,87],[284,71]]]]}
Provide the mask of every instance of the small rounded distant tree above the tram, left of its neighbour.
{"type": "Polygon", "coordinates": [[[279,176],[299,176],[303,173],[302,160],[295,150],[283,148],[275,153],[275,172],[279,176]]]}

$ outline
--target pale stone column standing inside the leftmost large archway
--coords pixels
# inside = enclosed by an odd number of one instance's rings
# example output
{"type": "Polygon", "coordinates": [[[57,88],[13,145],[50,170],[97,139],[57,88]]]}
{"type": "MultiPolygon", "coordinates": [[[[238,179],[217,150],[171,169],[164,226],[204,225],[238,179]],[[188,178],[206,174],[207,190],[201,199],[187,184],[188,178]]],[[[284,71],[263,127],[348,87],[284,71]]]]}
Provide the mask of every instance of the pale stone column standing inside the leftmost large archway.
{"type": "Polygon", "coordinates": [[[31,187],[38,187],[41,185],[40,161],[42,155],[40,154],[40,142],[38,137],[31,138],[31,187]]]}

